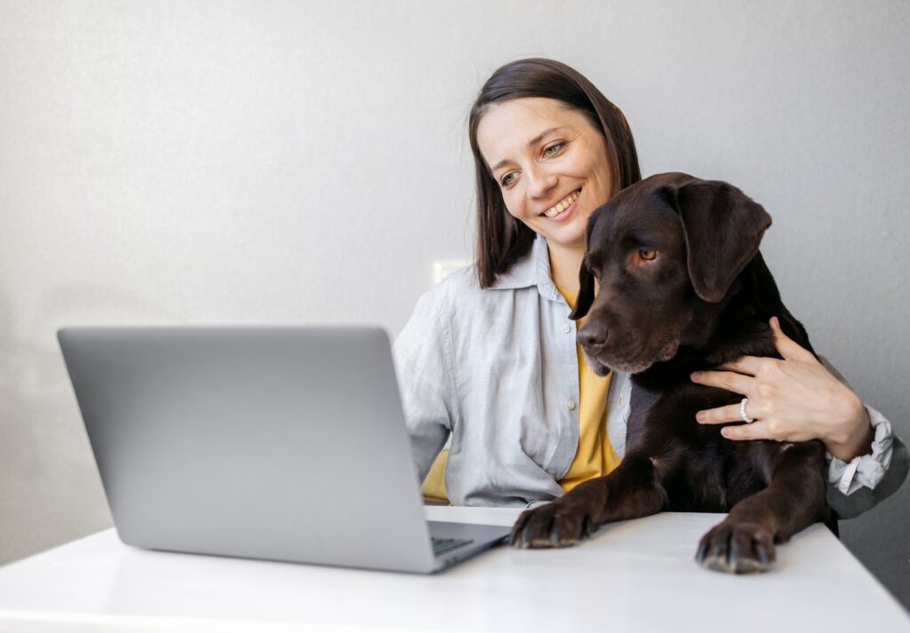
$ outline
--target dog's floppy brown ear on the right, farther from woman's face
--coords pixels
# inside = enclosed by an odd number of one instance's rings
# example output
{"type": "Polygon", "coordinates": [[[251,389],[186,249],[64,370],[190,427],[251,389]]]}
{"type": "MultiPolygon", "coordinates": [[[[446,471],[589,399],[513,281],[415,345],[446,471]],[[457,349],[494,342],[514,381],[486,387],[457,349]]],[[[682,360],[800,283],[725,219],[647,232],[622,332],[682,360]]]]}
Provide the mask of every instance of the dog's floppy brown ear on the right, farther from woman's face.
{"type": "Polygon", "coordinates": [[[771,216],[733,185],[691,179],[668,187],[682,222],[695,293],[718,303],[758,252],[771,216]]]}

